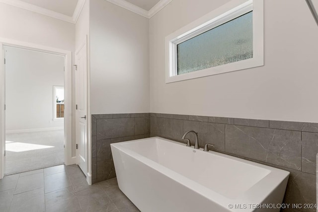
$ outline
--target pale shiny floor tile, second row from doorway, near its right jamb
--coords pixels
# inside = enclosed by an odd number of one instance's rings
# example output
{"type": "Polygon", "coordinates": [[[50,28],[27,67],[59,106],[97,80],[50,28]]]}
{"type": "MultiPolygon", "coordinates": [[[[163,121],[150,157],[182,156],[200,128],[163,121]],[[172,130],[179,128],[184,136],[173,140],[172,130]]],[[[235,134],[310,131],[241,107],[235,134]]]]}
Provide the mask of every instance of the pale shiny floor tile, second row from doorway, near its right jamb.
{"type": "Polygon", "coordinates": [[[44,176],[45,194],[53,192],[53,191],[57,191],[60,189],[68,188],[71,185],[72,185],[71,181],[68,178],[66,172],[44,176]]]}

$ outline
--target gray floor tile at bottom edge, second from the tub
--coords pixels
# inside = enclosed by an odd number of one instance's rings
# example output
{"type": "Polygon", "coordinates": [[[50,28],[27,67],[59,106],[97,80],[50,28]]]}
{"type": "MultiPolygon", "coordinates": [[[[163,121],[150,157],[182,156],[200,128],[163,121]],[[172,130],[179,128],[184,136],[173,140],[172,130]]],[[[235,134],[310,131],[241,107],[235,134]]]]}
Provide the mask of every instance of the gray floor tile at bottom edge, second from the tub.
{"type": "Polygon", "coordinates": [[[96,186],[76,193],[82,211],[87,212],[111,212],[117,209],[108,195],[96,186]]]}

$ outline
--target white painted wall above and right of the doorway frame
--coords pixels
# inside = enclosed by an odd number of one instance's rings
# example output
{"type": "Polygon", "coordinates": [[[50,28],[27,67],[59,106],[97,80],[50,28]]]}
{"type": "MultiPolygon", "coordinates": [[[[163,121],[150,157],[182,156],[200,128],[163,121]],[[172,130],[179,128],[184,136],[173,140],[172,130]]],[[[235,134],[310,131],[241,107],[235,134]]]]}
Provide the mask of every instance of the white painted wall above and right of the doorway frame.
{"type": "MultiPolygon", "coordinates": [[[[75,24],[0,3],[0,38],[72,51],[75,55],[75,24]]],[[[72,75],[74,75],[74,69],[72,75]]],[[[74,92],[74,84],[72,85],[74,92]]],[[[72,104],[74,105],[74,104],[72,104]]],[[[74,111],[72,112],[74,113],[74,111]]],[[[75,123],[72,116],[72,122],[75,123]]],[[[75,155],[75,128],[72,128],[72,155],[75,155]]]]}

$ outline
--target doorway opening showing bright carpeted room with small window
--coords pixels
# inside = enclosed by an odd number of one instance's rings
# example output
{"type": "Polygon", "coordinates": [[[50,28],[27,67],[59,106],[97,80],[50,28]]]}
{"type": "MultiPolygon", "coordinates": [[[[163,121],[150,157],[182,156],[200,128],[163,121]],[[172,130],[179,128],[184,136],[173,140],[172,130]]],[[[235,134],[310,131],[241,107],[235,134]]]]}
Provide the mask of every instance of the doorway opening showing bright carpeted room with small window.
{"type": "Polygon", "coordinates": [[[65,56],[4,46],[5,175],[64,164],[65,56]]]}

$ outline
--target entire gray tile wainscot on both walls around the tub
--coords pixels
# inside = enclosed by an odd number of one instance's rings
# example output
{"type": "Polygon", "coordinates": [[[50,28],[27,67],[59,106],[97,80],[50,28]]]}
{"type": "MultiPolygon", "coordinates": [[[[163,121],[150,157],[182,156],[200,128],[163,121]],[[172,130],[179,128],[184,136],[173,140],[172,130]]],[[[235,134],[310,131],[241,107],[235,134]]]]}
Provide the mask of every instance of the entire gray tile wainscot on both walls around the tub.
{"type": "Polygon", "coordinates": [[[198,132],[201,147],[214,143],[216,151],[289,171],[285,203],[316,202],[318,123],[158,113],[92,115],[93,183],[115,177],[110,143],[154,136],[184,142],[181,137],[188,130],[198,132]]]}

